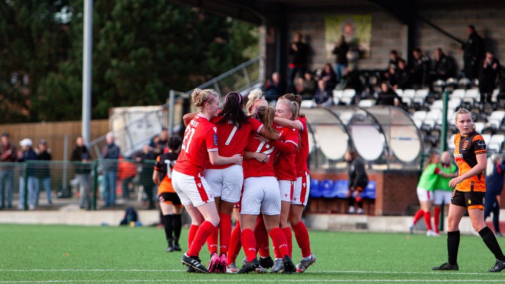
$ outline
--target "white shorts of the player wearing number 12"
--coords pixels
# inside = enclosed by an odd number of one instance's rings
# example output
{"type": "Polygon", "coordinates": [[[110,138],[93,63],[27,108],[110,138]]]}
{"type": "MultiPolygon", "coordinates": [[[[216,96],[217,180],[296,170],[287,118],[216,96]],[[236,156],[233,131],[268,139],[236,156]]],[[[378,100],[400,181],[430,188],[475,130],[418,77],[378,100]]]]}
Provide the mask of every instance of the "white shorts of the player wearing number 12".
{"type": "Polygon", "coordinates": [[[277,179],[273,176],[248,177],[244,179],[244,192],[240,214],[281,214],[281,198],[277,179]]]}

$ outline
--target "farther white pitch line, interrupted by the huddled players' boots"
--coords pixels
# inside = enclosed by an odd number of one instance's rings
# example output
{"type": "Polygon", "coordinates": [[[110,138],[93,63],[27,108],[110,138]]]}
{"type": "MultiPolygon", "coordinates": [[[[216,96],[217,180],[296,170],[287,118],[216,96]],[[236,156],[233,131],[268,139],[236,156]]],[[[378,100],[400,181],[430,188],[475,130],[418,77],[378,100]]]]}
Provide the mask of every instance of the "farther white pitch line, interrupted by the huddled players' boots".
{"type": "MultiPolygon", "coordinates": [[[[0,269],[0,272],[186,272],[182,269],[0,269]]],[[[414,274],[414,275],[502,275],[500,273],[479,272],[414,272],[414,271],[359,271],[359,270],[309,270],[309,273],[376,273],[376,274],[414,274]]],[[[1,282],[0,282],[1,283],[1,282]]]]}

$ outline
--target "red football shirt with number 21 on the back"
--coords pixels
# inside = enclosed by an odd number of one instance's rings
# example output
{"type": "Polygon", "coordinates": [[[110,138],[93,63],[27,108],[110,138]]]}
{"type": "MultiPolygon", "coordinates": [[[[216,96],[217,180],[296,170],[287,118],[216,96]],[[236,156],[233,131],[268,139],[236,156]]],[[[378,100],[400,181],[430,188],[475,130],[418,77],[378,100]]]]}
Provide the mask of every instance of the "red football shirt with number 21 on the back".
{"type": "Polygon", "coordinates": [[[186,127],[181,153],[173,170],[198,176],[209,160],[208,152],[218,151],[218,130],[209,119],[197,114],[186,127]]]}

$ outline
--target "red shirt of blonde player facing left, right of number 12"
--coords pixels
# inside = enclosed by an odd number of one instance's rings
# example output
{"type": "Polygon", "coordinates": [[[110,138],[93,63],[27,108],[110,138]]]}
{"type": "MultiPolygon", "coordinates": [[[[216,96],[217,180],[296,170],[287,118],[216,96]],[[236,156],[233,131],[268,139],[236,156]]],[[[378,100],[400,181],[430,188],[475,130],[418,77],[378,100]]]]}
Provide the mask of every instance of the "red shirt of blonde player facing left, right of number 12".
{"type": "MultiPolygon", "coordinates": [[[[277,126],[276,130],[279,131],[278,141],[282,141],[283,143],[293,143],[296,147],[298,147],[298,130],[282,126],[277,126]]],[[[296,150],[290,153],[279,153],[277,163],[275,164],[275,174],[278,180],[296,180],[296,153],[296,150]]]]}

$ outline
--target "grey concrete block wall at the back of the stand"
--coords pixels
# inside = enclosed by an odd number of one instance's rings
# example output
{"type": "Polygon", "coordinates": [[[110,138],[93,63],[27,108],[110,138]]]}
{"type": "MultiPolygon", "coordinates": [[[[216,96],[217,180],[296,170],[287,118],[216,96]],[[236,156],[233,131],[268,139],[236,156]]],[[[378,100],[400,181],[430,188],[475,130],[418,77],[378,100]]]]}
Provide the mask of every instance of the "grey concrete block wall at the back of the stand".
{"type": "MultiPolygon", "coordinates": [[[[505,27],[503,26],[505,4],[496,8],[475,7],[460,10],[449,7],[437,9],[439,10],[420,8],[418,12],[430,22],[463,41],[468,38],[466,26],[474,25],[477,32],[484,38],[487,48],[495,51],[498,59],[505,62],[505,27]]],[[[332,64],[335,62],[335,57],[330,59],[326,57],[324,18],[326,15],[345,14],[372,14],[371,56],[358,61],[359,69],[385,69],[389,61],[389,52],[392,49],[398,50],[403,58],[407,57],[407,28],[383,8],[368,4],[363,7],[345,9],[291,10],[287,17],[289,40],[293,39],[293,35],[297,31],[307,37],[306,41],[313,51],[310,58],[311,69],[321,68],[327,62],[332,64]]],[[[416,47],[420,47],[431,57],[433,57],[434,50],[441,47],[446,53],[453,55],[462,68],[462,51],[460,51],[461,45],[459,43],[419,20],[416,21],[414,36],[416,47]]]]}

